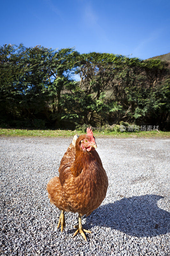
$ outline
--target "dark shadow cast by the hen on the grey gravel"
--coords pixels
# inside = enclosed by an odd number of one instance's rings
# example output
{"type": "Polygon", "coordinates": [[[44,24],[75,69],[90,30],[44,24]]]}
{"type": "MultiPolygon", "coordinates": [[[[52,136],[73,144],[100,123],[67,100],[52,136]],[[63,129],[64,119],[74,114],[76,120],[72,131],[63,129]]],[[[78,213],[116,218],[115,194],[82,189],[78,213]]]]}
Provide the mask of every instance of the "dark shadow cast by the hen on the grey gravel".
{"type": "Polygon", "coordinates": [[[130,236],[152,237],[170,232],[170,213],[158,207],[158,195],[122,198],[105,204],[86,219],[91,226],[110,227],[130,236]]]}

